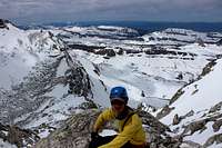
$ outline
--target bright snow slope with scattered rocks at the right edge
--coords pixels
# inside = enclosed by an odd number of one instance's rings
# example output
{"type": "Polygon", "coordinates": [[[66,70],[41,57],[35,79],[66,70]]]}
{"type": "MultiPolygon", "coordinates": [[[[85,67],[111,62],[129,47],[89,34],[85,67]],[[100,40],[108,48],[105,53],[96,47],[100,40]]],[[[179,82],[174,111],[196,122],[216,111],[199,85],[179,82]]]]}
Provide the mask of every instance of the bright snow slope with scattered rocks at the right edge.
{"type": "Polygon", "coordinates": [[[161,121],[169,125],[176,135],[183,135],[184,140],[221,148],[222,144],[216,145],[221,138],[213,138],[222,134],[221,76],[220,59],[210,73],[181,90],[182,96],[170,106],[174,109],[161,121]]]}

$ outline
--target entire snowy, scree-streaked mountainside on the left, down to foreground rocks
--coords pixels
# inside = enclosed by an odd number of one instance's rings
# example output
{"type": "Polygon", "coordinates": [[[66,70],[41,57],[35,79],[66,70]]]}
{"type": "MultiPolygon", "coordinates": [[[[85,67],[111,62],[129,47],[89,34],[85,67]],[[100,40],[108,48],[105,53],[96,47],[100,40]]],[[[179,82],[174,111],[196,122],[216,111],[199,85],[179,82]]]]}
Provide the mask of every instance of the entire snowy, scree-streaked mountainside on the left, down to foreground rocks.
{"type": "Polygon", "coordinates": [[[6,26],[0,29],[1,122],[27,128],[53,126],[88,102],[87,73],[81,63],[69,60],[59,38],[49,30],[6,26]],[[68,93],[70,81],[80,87],[74,95],[68,93]]]}

